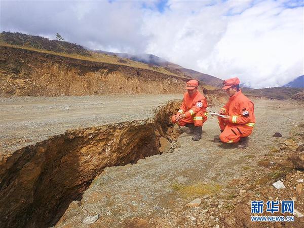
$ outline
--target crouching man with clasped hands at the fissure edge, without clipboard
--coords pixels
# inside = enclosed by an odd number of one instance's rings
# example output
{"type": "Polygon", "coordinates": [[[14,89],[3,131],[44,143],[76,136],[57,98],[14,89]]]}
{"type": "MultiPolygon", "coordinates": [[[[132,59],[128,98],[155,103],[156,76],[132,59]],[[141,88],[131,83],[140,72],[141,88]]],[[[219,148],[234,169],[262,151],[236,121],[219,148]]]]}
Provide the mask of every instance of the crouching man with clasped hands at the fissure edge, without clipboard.
{"type": "Polygon", "coordinates": [[[188,134],[194,134],[192,140],[202,138],[202,126],[207,120],[207,100],[198,91],[198,81],[190,80],[186,84],[187,92],[184,93],[182,105],[176,115],[172,116],[172,122],[179,126],[189,127],[188,134]]]}

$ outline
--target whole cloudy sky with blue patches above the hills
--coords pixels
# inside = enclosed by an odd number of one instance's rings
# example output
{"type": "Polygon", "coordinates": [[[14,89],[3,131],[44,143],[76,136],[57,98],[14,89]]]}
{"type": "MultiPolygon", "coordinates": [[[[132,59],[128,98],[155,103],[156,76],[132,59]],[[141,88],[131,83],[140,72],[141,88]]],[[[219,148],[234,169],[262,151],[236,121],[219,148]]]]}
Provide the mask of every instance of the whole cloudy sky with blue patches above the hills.
{"type": "Polygon", "coordinates": [[[2,1],[1,30],[151,53],[255,88],[304,74],[300,1],[2,1]]]}

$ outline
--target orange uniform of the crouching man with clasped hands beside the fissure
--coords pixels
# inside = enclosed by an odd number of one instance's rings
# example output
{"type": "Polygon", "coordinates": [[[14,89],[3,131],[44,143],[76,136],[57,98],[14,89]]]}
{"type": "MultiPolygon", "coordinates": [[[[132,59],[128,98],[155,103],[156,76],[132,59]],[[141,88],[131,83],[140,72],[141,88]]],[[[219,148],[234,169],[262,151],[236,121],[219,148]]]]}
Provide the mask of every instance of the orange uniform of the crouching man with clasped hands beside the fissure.
{"type": "Polygon", "coordinates": [[[176,117],[185,113],[186,117],[180,119],[177,124],[184,126],[186,123],[194,123],[195,126],[203,126],[207,120],[207,100],[205,96],[197,91],[193,96],[189,96],[188,92],[184,93],[181,107],[176,115],[172,116],[172,122],[176,123],[176,117]]]}

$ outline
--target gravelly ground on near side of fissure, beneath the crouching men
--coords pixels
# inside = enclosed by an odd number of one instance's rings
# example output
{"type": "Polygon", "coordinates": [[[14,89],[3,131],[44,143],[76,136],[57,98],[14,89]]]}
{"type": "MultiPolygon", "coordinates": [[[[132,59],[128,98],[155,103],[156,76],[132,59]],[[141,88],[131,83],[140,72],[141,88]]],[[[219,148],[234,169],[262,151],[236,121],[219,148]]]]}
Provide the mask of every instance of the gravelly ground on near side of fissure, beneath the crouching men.
{"type": "MultiPolygon", "coordinates": [[[[273,134],[280,132],[281,140],[285,140],[291,128],[304,122],[303,107],[293,102],[254,102],[257,123],[246,150],[214,142],[219,134],[217,119],[209,118],[201,141],[194,142],[184,133],[177,141],[180,148],[173,153],[146,157],[135,165],[106,168],[81,202],[71,203],[56,227],[87,227],[84,219],[88,216],[98,217],[91,227],[215,227],[219,219],[227,218],[215,210],[224,205],[226,213],[233,213],[226,202],[239,197],[238,192],[231,193],[240,190],[232,190],[234,181],[239,184],[241,178],[248,177],[247,183],[239,185],[241,189],[250,187],[258,173],[270,172],[269,167],[258,165],[264,156],[269,156],[271,164],[277,163],[280,150],[273,134]],[[204,191],[209,197],[203,198],[200,207],[184,207],[204,191]]],[[[303,199],[298,199],[297,205],[302,204],[303,199]]],[[[299,219],[294,227],[304,224],[299,219]]],[[[243,226],[232,219],[229,227],[243,226]]]]}

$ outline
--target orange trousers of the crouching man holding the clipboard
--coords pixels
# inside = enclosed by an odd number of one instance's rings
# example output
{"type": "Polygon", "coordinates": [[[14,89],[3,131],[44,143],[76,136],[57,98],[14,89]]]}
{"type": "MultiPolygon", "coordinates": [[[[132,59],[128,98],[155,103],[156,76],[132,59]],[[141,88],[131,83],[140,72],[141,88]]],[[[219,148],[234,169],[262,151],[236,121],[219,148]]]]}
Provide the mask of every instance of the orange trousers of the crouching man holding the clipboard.
{"type": "MultiPolygon", "coordinates": [[[[224,123],[221,124],[224,125],[224,123]]],[[[240,138],[251,135],[252,130],[253,127],[246,125],[243,126],[225,125],[223,128],[223,132],[219,135],[219,138],[223,143],[236,143],[240,140],[240,138]]]]}

